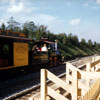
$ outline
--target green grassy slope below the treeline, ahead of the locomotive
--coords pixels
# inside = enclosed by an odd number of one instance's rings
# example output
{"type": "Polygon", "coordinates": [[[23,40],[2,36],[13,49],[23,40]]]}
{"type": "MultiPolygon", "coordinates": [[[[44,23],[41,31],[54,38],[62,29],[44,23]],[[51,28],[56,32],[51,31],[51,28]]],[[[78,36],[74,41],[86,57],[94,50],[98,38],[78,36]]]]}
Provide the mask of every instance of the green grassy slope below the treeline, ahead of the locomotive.
{"type": "Polygon", "coordinates": [[[89,56],[93,54],[99,54],[100,48],[89,48],[86,45],[77,46],[77,45],[64,45],[63,43],[58,43],[59,49],[66,59],[74,59],[76,57],[89,56]]]}

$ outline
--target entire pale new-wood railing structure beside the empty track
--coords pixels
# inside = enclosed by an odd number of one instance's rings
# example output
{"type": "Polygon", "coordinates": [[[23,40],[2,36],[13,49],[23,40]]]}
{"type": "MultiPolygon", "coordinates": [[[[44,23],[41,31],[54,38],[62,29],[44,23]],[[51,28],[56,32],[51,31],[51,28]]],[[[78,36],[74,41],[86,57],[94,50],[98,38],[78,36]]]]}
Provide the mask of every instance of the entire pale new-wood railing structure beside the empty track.
{"type": "Polygon", "coordinates": [[[91,63],[81,68],[66,62],[66,75],[63,79],[42,69],[39,100],[100,100],[100,57],[93,57],[91,63]],[[55,85],[48,86],[47,79],[55,85]]]}

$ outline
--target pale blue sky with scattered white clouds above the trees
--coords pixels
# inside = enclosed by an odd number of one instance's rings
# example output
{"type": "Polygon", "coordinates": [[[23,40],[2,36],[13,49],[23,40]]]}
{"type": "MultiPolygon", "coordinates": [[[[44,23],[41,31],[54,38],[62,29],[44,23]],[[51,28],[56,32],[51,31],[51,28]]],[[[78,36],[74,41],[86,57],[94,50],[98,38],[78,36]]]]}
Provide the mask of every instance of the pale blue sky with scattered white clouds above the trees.
{"type": "Polygon", "coordinates": [[[0,0],[0,25],[11,16],[100,43],[100,0],[0,0]]]}

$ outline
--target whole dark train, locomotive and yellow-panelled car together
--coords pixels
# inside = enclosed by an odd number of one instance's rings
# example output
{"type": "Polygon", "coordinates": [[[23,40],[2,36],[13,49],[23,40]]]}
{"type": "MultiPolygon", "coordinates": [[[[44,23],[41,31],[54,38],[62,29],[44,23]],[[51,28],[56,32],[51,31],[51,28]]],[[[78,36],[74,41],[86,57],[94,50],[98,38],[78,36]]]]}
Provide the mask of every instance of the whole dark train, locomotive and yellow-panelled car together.
{"type": "Polygon", "coordinates": [[[8,70],[37,70],[57,66],[62,56],[57,50],[57,42],[47,39],[34,41],[24,33],[0,29],[0,72],[8,70]],[[33,50],[46,45],[47,51],[33,50]]]}

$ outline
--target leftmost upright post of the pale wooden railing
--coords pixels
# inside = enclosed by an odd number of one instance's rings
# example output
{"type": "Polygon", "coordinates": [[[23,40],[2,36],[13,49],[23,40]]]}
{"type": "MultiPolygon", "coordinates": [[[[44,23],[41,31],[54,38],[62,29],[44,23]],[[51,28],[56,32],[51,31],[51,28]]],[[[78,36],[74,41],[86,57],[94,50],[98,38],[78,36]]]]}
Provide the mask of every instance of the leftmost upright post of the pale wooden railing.
{"type": "Polygon", "coordinates": [[[46,93],[47,93],[46,77],[47,77],[46,70],[41,69],[41,100],[46,100],[46,93]]]}

